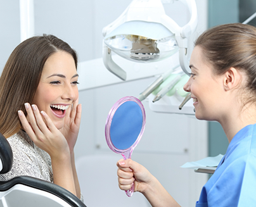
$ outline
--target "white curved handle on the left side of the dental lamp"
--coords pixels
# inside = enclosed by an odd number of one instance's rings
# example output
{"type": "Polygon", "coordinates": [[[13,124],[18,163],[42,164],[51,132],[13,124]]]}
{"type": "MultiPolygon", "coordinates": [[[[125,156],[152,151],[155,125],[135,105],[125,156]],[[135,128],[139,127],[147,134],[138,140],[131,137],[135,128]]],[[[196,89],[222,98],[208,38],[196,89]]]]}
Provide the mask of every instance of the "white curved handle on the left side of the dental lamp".
{"type": "Polygon", "coordinates": [[[114,75],[117,75],[118,78],[121,78],[122,80],[126,80],[126,72],[112,60],[111,49],[108,46],[106,46],[104,42],[103,42],[103,62],[106,68],[110,72],[112,72],[114,75]]]}

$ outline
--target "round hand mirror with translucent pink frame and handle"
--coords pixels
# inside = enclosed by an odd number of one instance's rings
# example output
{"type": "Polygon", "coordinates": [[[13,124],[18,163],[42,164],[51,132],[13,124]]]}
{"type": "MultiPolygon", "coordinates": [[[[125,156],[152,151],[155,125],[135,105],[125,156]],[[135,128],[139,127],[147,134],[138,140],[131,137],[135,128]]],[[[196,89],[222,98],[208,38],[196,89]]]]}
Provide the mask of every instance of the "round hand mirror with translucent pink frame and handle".
{"type": "MultiPolygon", "coordinates": [[[[118,100],[108,113],[105,125],[106,143],[110,149],[122,154],[124,160],[131,158],[134,147],[140,141],[146,123],[143,104],[133,96],[118,100]]],[[[131,197],[134,185],[125,191],[131,197]]]]}

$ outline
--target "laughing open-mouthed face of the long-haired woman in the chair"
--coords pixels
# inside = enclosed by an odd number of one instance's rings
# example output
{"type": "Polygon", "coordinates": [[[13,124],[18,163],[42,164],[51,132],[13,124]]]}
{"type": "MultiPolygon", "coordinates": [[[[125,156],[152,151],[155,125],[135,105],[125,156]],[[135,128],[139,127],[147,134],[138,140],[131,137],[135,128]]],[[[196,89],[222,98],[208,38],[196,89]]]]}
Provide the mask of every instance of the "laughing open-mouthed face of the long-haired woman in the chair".
{"type": "Polygon", "coordinates": [[[57,129],[63,127],[67,109],[79,96],[77,79],[75,61],[70,54],[58,51],[46,60],[33,104],[47,113],[57,129]]]}

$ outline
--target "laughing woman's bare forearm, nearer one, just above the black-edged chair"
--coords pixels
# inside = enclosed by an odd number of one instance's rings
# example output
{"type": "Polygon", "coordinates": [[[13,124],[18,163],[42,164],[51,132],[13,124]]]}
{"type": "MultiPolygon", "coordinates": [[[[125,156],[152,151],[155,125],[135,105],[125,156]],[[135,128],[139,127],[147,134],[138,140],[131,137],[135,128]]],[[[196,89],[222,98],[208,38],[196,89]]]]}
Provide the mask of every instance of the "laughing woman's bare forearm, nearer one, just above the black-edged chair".
{"type": "Polygon", "coordinates": [[[51,165],[53,168],[54,184],[60,185],[76,196],[77,193],[75,191],[75,182],[70,155],[63,154],[62,156],[58,156],[58,158],[51,158],[51,165]]]}

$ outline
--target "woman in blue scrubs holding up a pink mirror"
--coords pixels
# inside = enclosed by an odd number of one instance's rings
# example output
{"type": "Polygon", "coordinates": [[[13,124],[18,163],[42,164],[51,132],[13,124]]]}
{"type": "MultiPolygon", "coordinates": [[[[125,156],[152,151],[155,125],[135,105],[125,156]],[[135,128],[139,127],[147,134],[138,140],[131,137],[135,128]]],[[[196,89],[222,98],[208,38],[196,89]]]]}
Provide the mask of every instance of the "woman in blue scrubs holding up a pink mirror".
{"type": "MultiPolygon", "coordinates": [[[[229,141],[195,205],[256,206],[256,28],[240,23],[210,28],[195,42],[190,68],[184,90],[191,92],[196,118],[221,123],[229,141]]],[[[152,206],[179,206],[144,166],[131,159],[117,166],[120,189],[134,182],[134,191],[152,206]]]]}

